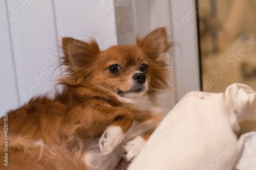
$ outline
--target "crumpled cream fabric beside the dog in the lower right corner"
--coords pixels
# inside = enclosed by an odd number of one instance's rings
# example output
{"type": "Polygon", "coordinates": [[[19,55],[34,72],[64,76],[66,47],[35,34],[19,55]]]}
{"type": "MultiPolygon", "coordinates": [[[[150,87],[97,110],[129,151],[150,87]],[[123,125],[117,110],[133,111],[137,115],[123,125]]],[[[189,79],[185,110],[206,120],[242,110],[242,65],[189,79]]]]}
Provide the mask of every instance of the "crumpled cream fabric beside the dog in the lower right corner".
{"type": "Polygon", "coordinates": [[[256,169],[256,151],[247,152],[255,149],[255,101],[256,93],[244,84],[232,84],[225,93],[189,92],[128,169],[256,169]]]}

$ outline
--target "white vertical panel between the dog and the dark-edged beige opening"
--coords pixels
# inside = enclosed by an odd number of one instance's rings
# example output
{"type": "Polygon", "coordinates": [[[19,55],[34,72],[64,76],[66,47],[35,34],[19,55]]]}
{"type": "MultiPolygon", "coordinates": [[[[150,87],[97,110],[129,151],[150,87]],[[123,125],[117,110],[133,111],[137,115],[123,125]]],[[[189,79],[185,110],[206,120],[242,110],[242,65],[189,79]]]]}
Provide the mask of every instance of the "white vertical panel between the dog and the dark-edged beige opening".
{"type": "Polygon", "coordinates": [[[176,94],[179,101],[186,93],[200,90],[196,1],[169,1],[173,40],[179,44],[174,49],[176,94]]]}

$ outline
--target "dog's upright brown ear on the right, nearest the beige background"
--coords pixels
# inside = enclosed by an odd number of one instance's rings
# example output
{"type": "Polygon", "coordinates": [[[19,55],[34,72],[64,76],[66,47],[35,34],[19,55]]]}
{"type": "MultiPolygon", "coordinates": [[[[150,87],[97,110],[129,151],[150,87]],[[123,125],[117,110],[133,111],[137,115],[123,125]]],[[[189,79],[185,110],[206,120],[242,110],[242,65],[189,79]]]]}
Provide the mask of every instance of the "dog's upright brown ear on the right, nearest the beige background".
{"type": "Polygon", "coordinates": [[[149,58],[158,61],[165,59],[165,54],[171,46],[164,27],[155,29],[144,38],[137,37],[136,44],[149,58]]]}

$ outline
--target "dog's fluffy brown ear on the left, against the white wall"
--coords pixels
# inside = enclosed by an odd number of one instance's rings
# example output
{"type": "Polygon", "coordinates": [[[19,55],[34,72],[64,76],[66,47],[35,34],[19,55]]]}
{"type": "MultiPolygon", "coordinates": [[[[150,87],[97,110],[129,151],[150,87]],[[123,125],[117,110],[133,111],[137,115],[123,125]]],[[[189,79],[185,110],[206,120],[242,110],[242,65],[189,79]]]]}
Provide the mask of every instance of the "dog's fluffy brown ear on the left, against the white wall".
{"type": "Polygon", "coordinates": [[[95,39],[83,42],[71,37],[62,38],[62,50],[65,54],[63,64],[72,68],[91,64],[100,53],[95,39]]]}

